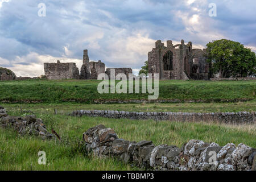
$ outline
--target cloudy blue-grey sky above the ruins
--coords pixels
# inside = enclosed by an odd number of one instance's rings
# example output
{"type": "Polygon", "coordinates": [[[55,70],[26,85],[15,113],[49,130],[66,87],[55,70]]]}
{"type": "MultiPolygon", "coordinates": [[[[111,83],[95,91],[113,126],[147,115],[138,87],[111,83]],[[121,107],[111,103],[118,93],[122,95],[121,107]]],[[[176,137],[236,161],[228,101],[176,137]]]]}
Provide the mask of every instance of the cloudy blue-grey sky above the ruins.
{"type": "Polygon", "coordinates": [[[204,48],[222,38],[256,52],[255,0],[0,0],[0,67],[16,76],[43,75],[43,63],[57,60],[80,68],[83,49],[90,60],[137,73],[156,40],[204,48]]]}

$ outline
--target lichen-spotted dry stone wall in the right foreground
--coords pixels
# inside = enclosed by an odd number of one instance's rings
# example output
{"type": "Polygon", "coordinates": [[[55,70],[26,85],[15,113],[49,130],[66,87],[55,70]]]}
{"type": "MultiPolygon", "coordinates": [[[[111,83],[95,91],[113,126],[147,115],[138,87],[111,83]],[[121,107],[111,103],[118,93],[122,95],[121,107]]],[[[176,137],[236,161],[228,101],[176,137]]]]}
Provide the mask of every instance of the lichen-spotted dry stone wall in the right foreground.
{"type": "Polygon", "coordinates": [[[151,141],[119,139],[113,129],[98,125],[83,134],[86,150],[96,156],[113,156],[125,163],[153,170],[250,171],[256,170],[256,149],[243,143],[224,147],[202,140],[189,140],[183,147],[151,141]]]}

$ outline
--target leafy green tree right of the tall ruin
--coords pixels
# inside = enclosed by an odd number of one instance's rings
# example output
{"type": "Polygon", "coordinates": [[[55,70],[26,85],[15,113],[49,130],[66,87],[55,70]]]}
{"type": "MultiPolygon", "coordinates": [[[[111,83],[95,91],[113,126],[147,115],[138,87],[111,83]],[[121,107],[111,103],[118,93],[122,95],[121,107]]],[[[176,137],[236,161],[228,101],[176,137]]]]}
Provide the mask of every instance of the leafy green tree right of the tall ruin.
{"type": "Polygon", "coordinates": [[[255,53],[239,42],[214,40],[207,44],[207,56],[212,73],[220,73],[220,77],[247,77],[256,73],[255,53]]]}

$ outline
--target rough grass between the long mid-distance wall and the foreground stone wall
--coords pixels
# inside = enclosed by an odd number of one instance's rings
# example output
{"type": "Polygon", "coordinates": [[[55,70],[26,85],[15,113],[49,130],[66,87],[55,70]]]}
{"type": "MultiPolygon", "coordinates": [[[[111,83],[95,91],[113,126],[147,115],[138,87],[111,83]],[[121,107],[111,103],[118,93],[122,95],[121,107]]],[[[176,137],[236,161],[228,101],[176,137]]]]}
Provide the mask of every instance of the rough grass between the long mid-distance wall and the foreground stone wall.
{"type": "MultiPolygon", "coordinates": [[[[18,110],[11,115],[22,115],[18,110]]],[[[219,123],[155,122],[130,119],[69,117],[49,114],[41,110],[36,114],[42,118],[47,129],[55,129],[63,142],[42,141],[37,137],[19,137],[14,131],[0,129],[0,170],[133,170],[115,159],[93,158],[81,146],[82,133],[90,127],[104,124],[113,128],[119,138],[140,141],[152,140],[154,144],[174,144],[181,147],[190,139],[226,143],[245,143],[256,147],[255,125],[224,125],[219,123]],[[38,164],[38,151],[46,151],[47,165],[38,164]],[[100,164],[100,165],[99,165],[100,164]]]]}

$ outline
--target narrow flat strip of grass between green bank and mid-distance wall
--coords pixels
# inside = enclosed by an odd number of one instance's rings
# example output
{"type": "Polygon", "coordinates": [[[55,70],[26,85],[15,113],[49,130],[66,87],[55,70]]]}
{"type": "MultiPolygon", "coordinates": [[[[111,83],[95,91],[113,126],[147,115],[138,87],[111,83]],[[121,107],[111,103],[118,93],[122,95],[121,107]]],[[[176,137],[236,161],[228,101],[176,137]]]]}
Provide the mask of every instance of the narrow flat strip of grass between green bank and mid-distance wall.
{"type": "Polygon", "coordinates": [[[237,112],[255,111],[256,100],[231,103],[177,103],[177,104],[2,104],[7,110],[32,111],[35,113],[58,113],[67,114],[73,110],[118,110],[118,111],[172,111],[172,112],[237,112]]]}

